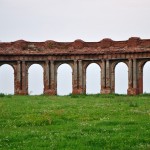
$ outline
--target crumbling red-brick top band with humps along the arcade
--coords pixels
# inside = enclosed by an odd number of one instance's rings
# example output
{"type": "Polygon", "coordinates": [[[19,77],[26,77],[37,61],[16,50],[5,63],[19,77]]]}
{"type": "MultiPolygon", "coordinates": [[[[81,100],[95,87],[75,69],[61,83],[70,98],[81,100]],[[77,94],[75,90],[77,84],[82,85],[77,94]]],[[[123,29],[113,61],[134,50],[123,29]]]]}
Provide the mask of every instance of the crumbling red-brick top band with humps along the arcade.
{"type": "Polygon", "coordinates": [[[87,55],[150,52],[150,39],[131,37],[127,41],[103,39],[99,42],[1,42],[0,55],[87,55]]]}

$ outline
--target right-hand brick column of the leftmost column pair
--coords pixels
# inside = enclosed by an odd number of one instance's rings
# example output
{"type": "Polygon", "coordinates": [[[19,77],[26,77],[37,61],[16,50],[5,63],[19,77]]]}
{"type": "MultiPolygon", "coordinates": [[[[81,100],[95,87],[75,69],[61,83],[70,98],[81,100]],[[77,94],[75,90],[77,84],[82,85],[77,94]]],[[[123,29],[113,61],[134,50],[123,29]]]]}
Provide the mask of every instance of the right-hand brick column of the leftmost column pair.
{"type": "Polygon", "coordinates": [[[26,70],[25,61],[22,61],[22,92],[21,94],[28,94],[28,72],[26,70]]]}

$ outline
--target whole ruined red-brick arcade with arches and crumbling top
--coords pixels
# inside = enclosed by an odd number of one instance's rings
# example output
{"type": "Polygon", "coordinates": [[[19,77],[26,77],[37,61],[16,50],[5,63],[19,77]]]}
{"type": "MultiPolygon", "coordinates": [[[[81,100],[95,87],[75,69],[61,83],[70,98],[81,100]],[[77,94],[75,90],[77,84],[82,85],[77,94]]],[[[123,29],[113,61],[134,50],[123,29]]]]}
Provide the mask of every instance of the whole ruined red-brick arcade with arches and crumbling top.
{"type": "Polygon", "coordinates": [[[72,67],[73,93],[86,93],[86,68],[96,63],[101,68],[101,91],[115,91],[115,66],[128,66],[128,94],[143,93],[143,66],[150,61],[150,39],[132,37],[127,41],[103,39],[100,42],[27,42],[0,43],[0,65],[14,69],[15,94],[28,94],[28,69],[40,64],[44,70],[44,93],[57,93],[57,69],[63,64],[72,67]]]}

